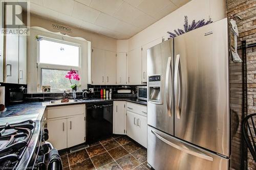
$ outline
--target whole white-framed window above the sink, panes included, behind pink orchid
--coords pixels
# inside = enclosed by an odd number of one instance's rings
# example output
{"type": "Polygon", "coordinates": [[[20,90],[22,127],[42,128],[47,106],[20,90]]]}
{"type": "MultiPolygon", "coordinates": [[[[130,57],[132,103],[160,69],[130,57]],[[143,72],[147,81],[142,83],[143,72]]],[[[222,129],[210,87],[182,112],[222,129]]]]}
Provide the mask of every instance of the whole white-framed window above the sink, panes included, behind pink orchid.
{"type": "Polygon", "coordinates": [[[51,92],[71,90],[65,75],[70,69],[81,71],[81,45],[40,37],[37,41],[37,68],[37,91],[42,86],[51,86],[51,92]]]}

